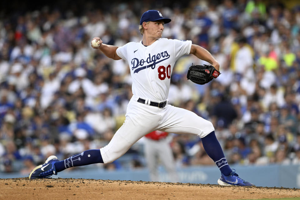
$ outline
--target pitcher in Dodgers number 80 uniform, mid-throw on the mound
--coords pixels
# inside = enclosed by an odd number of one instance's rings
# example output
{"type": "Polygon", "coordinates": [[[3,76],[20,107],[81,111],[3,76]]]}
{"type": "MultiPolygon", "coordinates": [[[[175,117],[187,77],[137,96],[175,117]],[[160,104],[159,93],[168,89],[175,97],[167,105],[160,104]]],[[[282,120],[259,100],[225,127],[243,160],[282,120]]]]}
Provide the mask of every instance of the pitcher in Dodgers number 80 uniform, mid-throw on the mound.
{"type": "Polygon", "coordinates": [[[128,103],[126,119],[107,146],[87,150],[62,161],[56,156],[50,156],[44,164],[32,170],[29,179],[47,178],[70,167],[111,163],[144,135],[159,130],[199,136],[206,153],[221,171],[218,184],[253,186],[229,167],[211,122],[191,111],[168,104],[171,74],[175,62],[181,56],[193,54],[211,63],[211,66],[191,66],[187,78],[194,83],[208,83],[220,74],[218,62],[206,49],[189,40],[162,37],[164,24],[169,22],[171,19],[164,18],[158,10],[148,10],[140,20],[142,41],[117,47],[103,44],[99,37],[92,40],[92,47],[102,51],[108,58],[128,62],[133,97],[128,103]]]}

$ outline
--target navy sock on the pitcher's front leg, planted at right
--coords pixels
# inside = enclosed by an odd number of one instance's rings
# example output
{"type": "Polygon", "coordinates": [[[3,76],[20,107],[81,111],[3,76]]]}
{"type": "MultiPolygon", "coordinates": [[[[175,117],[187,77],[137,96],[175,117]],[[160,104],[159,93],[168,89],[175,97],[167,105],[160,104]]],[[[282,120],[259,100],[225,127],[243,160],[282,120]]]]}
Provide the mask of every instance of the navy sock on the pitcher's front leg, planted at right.
{"type": "Polygon", "coordinates": [[[221,173],[225,176],[229,176],[232,169],[229,167],[227,160],[224,156],[222,147],[217,140],[215,132],[209,133],[204,138],[201,138],[204,150],[207,155],[216,163],[221,173]]]}

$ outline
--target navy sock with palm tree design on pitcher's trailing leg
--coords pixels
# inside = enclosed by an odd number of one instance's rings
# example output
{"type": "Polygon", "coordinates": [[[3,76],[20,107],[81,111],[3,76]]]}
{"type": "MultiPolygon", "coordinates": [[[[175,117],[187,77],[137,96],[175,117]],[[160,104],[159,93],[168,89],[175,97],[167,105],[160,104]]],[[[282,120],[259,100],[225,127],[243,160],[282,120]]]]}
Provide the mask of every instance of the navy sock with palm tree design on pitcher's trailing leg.
{"type": "Polygon", "coordinates": [[[57,172],[61,172],[67,168],[89,165],[94,163],[103,163],[100,149],[86,150],[78,153],[70,158],[54,163],[57,172]]]}

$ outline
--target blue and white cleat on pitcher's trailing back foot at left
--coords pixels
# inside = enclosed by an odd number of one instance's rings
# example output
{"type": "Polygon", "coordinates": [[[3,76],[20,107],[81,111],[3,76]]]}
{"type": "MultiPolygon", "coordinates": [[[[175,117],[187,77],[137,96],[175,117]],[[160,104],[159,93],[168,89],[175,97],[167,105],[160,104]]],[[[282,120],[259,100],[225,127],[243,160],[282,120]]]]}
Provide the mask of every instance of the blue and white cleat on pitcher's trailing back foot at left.
{"type": "Polygon", "coordinates": [[[34,168],[29,174],[29,179],[48,178],[53,174],[57,175],[54,163],[59,161],[56,156],[49,156],[46,162],[34,168]]]}

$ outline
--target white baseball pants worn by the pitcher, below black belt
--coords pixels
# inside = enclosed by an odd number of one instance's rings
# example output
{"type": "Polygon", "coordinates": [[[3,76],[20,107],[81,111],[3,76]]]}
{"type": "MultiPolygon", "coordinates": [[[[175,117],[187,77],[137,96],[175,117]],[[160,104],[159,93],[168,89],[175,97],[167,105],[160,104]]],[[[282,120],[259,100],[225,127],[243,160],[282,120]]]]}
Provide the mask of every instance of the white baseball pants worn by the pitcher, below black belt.
{"type": "Polygon", "coordinates": [[[172,105],[164,108],[145,105],[138,103],[138,98],[133,95],[127,106],[125,122],[108,145],[100,149],[104,163],[120,158],[140,138],[155,130],[195,134],[200,138],[214,131],[211,122],[191,111],[172,105]]]}

